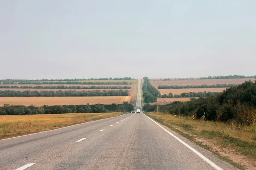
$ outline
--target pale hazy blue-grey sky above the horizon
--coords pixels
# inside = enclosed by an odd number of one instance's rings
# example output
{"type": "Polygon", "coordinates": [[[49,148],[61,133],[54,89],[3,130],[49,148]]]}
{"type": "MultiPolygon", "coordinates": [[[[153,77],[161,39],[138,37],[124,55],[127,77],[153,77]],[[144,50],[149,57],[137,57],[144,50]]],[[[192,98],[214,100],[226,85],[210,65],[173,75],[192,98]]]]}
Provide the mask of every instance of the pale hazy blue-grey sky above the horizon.
{"type": "Polygon", "coordinates": [[[0,79],[256,74],[256,0],[0,0],[0,79]]]}

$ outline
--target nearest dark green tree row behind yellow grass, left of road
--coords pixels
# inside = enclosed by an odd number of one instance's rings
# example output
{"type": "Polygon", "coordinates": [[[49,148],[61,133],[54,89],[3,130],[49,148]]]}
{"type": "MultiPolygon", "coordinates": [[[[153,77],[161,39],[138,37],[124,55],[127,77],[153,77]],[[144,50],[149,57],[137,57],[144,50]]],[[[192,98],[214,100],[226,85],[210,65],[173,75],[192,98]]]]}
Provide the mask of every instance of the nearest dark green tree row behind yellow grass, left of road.
{"type": "Polygon", "coordinates": [[[31,115],[31,114],[61,114],[61,113],[105,113],[114,111],[131,112],[134,109],[133,105],[128,102],[123,104],[112,105],[44,105],[37,107],[35,105],[3,105],[0,107],[0,115],[31,115]]]}

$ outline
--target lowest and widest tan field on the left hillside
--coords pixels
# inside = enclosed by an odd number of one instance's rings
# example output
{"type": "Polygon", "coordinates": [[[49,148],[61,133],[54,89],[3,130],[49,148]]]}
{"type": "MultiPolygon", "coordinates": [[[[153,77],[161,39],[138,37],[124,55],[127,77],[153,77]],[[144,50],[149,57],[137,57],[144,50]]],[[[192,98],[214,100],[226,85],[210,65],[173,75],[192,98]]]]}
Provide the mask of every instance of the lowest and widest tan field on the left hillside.
{"type": "Polygon", "coordinates": [[[10,105],[94,105],[97,103],[110,105],[120,101],[130,102],[131,96],[96,96],[96,97],[0,97],[0,106],[10,105]]]}

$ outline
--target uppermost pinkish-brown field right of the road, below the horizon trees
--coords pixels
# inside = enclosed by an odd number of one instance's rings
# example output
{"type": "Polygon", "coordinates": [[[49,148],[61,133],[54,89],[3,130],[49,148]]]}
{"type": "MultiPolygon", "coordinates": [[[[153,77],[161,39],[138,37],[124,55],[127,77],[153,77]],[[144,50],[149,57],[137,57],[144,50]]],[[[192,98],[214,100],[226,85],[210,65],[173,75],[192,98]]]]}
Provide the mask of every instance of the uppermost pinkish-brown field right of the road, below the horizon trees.
{"type": "Polygon", "coordinates": [[[214,85],[214,84],[242,84],[245,81],[255,81],[255,79],[191,79],[191,80],[171,80],[161,81],[151,79],[151,84],[155,88],[159,85],[214,85]]]}

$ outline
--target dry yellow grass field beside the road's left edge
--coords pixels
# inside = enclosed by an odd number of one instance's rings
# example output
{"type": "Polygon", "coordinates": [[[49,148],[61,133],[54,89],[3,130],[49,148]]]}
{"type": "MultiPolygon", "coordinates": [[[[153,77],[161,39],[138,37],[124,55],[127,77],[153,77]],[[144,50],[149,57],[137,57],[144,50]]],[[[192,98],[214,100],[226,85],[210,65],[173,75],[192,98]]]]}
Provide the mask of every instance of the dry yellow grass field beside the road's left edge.
{"type": "Polygon", "coordinates": [[[123,113],[66,113],[0,116],[0,139],[57,129],[93,120],[119,116],[123,113]]]}

